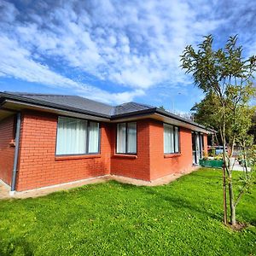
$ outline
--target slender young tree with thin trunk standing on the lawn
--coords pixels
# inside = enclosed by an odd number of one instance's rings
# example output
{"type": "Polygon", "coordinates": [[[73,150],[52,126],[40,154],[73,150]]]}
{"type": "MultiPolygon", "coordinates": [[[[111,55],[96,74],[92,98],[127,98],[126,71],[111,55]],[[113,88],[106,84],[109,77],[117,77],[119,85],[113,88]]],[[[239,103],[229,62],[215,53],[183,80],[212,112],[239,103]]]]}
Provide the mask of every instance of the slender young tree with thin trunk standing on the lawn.
{"type": "MultiPolygon", "coordinates": [[[[224,145],[224,195],[227,180],[230,223],[235,225],[236,205],[240,199],[237,201],[234,197],[231,157],[235,144],[246,142],[245,137],[251,126],[253,111],[248,102],[255,96],[253,73],[256,71],[256,56],[245,59],[242,56],[242,47],[237,46],[236,36],[229,38],[224,49],[214,50],[212,42],[210,35],[198,45],[197,50],[188,45],[181,55],[181,66],[186,73],[192,73],[196,86],[207,96],[212,95],[216,99],[214,122],[218,125],[224,145]],[[226,145],[229,150],[226,150],[226,145]]],[[[224,223],[226,222],[224,218],[224,223]]]]}

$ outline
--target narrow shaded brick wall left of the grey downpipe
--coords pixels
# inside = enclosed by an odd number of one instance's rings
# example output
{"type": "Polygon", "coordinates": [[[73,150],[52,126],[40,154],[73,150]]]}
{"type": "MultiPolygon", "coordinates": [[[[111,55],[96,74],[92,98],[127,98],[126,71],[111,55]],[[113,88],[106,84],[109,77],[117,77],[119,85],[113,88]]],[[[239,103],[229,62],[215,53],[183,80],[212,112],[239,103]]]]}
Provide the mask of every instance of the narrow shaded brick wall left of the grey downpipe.
{"type": "Polygon", "coordinates": [[[15,139],[15,116],[0,121],[0,179],[11,184],[15,159],[15,147],[10,146],[15,139]]]}

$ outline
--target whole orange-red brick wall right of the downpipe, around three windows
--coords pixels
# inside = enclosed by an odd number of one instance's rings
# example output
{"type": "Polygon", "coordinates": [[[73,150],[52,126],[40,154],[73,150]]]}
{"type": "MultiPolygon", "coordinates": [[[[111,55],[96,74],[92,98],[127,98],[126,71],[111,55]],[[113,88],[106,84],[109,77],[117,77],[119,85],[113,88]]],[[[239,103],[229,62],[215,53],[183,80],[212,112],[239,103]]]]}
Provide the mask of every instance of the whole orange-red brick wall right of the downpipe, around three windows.
{"type": "MultiPolygon", "coordinates": [[[[136,157],[115,154],[116,124],[104,123],[101,124],[101,154],[55,157],[57,119],[57,115],[50,113],[22,113],[16,190],[36,189],[109,173],[150,181],[174,172],[189,171],[192,166],[191,131],[181,128],[181,154],[165,157],[163,124],[153,119],[137,121],[136,157]]],[[[207,148],[206,137],[204,140],[207,148]]]]}

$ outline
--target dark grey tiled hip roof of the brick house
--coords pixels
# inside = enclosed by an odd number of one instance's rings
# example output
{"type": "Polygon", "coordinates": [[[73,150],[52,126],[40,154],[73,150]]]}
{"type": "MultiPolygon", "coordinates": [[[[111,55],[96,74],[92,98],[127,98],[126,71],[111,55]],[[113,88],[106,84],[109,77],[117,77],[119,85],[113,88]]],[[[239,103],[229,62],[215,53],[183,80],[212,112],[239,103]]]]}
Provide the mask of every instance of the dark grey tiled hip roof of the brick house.
{"type": "Polygon", "coordinates": [[[62,96],[51,94],[32,94],[22,92],[0,92],[0,108],[4,102],[14,101],[16,103],[33,104],[41,107],[49,107],[75,113],[84,113],[106,119],[120,119],[140,114],[157,113],[172,119],[177,119],[183,123],[200,127],[201,129],[215,132],[204,125],[197,124],[189,119],[183,119],[176,114],[167,112],[154,106],[140,104],[137,102],[127,102],[118,106],[111,106],[102,102],[96,102],[81,96],[62,96]]]}

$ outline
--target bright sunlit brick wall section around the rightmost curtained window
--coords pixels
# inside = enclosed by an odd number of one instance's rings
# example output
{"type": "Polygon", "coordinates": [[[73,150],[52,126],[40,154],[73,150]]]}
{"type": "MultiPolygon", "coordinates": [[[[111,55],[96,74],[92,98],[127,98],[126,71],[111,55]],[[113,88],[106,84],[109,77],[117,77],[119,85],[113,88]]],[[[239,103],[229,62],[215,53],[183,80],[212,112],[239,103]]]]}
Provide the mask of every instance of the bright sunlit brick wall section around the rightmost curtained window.
{"type": "Polygon", "coordinates": [[[180,127],[181,154],[164,154],[163,123],[152,120],[150,122],[150,179],[175,172],[187,172],[192,167],[192,138],[191,131],[180,127]],[[166,156],[166,157],[165,157],[166,156]]]}

